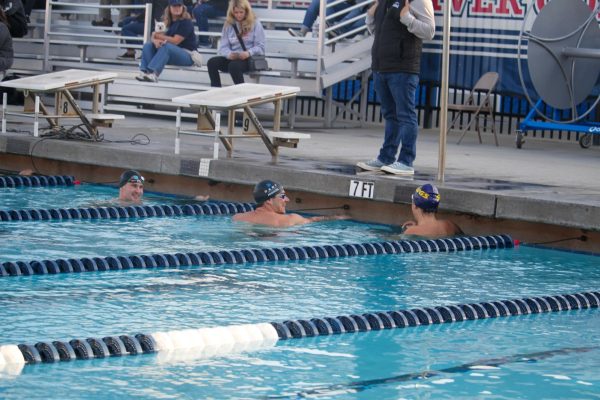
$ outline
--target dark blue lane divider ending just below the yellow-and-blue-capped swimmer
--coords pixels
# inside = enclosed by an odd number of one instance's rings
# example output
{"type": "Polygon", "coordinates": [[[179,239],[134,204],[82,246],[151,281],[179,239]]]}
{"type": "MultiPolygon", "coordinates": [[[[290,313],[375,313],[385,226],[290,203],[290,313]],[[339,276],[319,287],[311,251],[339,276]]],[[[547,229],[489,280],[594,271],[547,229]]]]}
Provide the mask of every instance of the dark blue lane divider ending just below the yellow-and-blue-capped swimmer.
{"type": "Polygon", "coordinates": [[[7,261],[0,264],[0,277],[114,271],[132,268],[174,268],[179,266],[297,261],[373,254],[453,252],[511,247],[513,247],[513,240],[510,236],[492,235],[436,240],[397,240],[323,246],[201,251],[197,253],[86,257],[80,259],[34,260],[28,262],[7,261]]]}

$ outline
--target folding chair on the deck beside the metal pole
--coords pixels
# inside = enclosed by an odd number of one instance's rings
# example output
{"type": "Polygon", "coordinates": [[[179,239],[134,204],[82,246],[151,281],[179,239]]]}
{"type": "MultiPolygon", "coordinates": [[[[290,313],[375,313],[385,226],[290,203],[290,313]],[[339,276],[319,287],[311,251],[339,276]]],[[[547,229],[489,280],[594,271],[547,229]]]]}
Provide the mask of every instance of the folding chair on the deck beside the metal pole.
{"type": "Polygon", "coordinates": [[[460,139],[458,139],[458,143],[463,140],[467,131],[475,121],[475,129],[477,130],[477,135],[479,136],[479,143],[483,143],[481,141],[481,130],[479,128],[479,116],[483,115],[485,118],[485,122],[487,122],[488,115],[492,118],[492,132],[494,133],[494,139],[496,141],[496,146],[498,146],[498,135],[496,134],[496,127],[494,123],[494,105],[492,104],[492,90],[496,87],[498,83],[498,73],[497,72],[486,72],[475,84],[473,90],[471,90],[471,94],[466,98],[463,104],[448,104],[449,111],[457,111],[458,113],[452,120],[452,123],[448,127],[448,132],[450,129],[454,127],[456,121],[458,121],[463,113],[473,114],[473,116],[469,119],[469,123],[466,128],[463,130],[460,139]]]}

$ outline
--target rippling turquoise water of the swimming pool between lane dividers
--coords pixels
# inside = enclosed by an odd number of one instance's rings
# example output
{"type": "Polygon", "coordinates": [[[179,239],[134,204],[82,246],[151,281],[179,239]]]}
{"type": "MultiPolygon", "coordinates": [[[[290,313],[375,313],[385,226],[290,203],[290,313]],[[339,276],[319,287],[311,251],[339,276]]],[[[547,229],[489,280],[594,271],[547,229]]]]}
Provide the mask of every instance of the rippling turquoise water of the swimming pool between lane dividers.
{"type": "MultiPolygon", "coordinates": [[[[7,226],[17,250],[3,245],[4,260],[367,242],[392,231],[351,221],[256,231],[227,216],[0,225],[7,226]],[[54,234],[55,226],[64,230],[54,234]],[[54,240],[38,241],[48,236],[54,240]]],[[[597,263],[590,255],[518,247],[3,277],[0,343],[593,291],[597,263]]],[[[600,384],[598,325],[597,310],[580,310],[291,339],[212,358],[187,350],[28,365],[0,372],[0,396],[591,397],[600,384]]]]}

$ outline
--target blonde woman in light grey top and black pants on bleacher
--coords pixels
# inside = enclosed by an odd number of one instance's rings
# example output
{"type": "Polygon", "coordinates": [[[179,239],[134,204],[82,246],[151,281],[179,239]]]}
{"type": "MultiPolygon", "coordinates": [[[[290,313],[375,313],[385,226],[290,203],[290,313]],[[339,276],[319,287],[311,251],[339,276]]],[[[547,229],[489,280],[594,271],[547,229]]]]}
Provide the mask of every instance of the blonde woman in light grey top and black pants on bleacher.
{"type": "Polygon", "coordinates": [[[249,71],[248,58],[265,54],[265,31],[256,19],[248,0],[231,0],[227,20],[223,25],[219,55],[208,60],[210,85],[221,87],[219,71],[229,72],[234,84],[244,83],[244,72],[249,71]],[[236,34],[236,29],[239,35],[236,34]],[[246,51],[243,50],[244,41],[246,51]]]}

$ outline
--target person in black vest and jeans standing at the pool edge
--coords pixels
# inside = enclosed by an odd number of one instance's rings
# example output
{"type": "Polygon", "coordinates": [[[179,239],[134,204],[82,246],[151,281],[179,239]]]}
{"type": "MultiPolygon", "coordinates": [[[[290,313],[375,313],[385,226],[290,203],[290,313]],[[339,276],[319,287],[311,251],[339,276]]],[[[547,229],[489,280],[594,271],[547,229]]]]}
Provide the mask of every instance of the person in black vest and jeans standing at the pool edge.
{"type": "Polygon", "coordinates": [[[413,175],[419,133],[415,93],[422,41],[435,34],[433,5],[431,0],[378,0],[367,12],[367,26],[374,35],[371,68],[385,136],[379,156],[356,165],[366,171],[413,175]]]}

